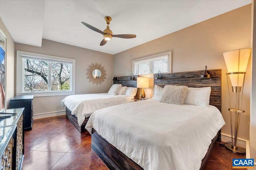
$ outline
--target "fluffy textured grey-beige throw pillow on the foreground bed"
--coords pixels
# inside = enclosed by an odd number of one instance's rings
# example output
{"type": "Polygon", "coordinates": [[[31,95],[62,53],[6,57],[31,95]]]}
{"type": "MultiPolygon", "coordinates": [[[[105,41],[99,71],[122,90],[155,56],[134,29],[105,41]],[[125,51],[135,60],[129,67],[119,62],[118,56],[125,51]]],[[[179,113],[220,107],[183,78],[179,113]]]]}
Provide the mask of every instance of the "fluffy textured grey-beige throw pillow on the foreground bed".
{"type": "Polygon", "coordinates": [[[164,86],[164,91],[159,102],[182,105],[188,92],[187,86],[164,86]]]}

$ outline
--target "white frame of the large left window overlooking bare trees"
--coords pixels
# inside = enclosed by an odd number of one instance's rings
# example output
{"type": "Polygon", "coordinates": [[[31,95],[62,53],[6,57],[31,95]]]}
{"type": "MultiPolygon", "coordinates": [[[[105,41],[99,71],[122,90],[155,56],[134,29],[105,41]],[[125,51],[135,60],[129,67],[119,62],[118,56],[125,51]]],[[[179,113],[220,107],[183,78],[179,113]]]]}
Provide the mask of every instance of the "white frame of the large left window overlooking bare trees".
{"type": "MultiPolygon", "coordinates": [[[[48,66],[48,74],[51,74],[51,67],[48,66]]],[[[76,60],[75,59],[68,59],[68,58],[63,58],[63,57],[56,57],[56,56],[51,56],[51,55],[43,55],[43,54],[37,54],[37,53],[29,53],[25,51],[17,51],[17,61],[16,61],[16,95],[31,95],[33,94],[34,96],[62,96],[62,95],[72,95],[75,94],[75,68],[76,68],[76,60]],[[22,57],[23,56],[23,57],[22,57]],[[45,60],[49,60],[49,62],[52,60],[53,62],[56,61],[62,61],[61,63],[72,63],[70,66],[70,90],[59,90],[59,91],[31,91],[31,92],[26,92],[24,91],[24,62],[23,59],[24,56],[33,57],[36,58],[42,58],[45,60]]],[[[50,76],[51,77],[51,76],[50,76]]],[[[51,79],[51,78],[50,78],[51,79]]],[[[50,84],[50,82],[49,82],[50,84]]],[[[48,86],[49,87],[49,86],[48,86]]],[[[49,90],[49,88],[48,88],[49,90]]]]}

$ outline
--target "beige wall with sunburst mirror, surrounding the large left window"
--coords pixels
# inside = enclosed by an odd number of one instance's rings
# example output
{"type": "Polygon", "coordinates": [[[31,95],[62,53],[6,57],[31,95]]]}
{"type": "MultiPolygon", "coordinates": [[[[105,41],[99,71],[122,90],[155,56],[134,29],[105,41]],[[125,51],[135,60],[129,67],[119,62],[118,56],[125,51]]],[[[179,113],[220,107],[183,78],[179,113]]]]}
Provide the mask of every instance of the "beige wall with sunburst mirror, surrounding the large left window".
{"type": "MultiPolygon", "coordinates": [[[[76,59],[76,94],[108,92],[112,85],[113,55],[46,39],[42,39],[42,47],[15,43],[15,53],[16,51],[26,51],[76,59]],[[102,84],[92,84],[92,82],[89,82],[89,80],[86,78],[86,69],[89,68],[89,65],[92,63],[102,64],[102,66],[104,66],[106,69],[106,79],[104,82],[102,82],[102,84]]],[[[65,108],[60,104],[60,101],[64,99],[64,97],[66,96],[35,97],[33,103],[34,115],[65,110],[65,108]]]]}

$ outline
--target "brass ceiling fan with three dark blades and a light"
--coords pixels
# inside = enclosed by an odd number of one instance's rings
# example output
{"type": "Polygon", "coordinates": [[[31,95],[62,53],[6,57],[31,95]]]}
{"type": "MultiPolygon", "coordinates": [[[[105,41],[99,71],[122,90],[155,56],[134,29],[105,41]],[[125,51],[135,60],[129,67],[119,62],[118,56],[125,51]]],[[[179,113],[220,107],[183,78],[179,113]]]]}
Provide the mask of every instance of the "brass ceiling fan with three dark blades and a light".
{"type": "MultiPolygon", "coordinates": [[[[107,24],[110,24],[110,21],[112,18],[110,16],[105,16],[105,20],[107,24]]],[[[134,34],[119,34],[119,35],[113,35],[112,31],[109,29],[109,26],[107,25],[107,28],[104,29],[104,31],[101,31],[98,28],[93,27],[92,25],[89,25],[88,23],[81,22],[86,27],[92,29],[93,31],[96,31],[98,33],[101,33],[104,37],[104,39],[100,42],[100,46],[105,45],[109,40],[112,39],[112,37],[118,37],[118,38],[135,38],[136,35],[134,34]]]]}

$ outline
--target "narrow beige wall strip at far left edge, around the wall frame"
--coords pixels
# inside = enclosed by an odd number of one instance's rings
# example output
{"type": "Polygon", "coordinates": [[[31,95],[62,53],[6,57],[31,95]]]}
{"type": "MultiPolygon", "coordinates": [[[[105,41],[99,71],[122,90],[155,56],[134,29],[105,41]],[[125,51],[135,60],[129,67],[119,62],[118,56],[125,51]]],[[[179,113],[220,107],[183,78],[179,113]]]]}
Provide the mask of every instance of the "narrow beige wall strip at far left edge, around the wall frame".
{"type": "Polygon", "coordinates": [[[14,40],[7,30],[4,22],[0,18],[0,29],[3,31],[7,38],[6,45],[6,108],[10,107],[10,99],[15,96],[14,94],[14,40]]]}

